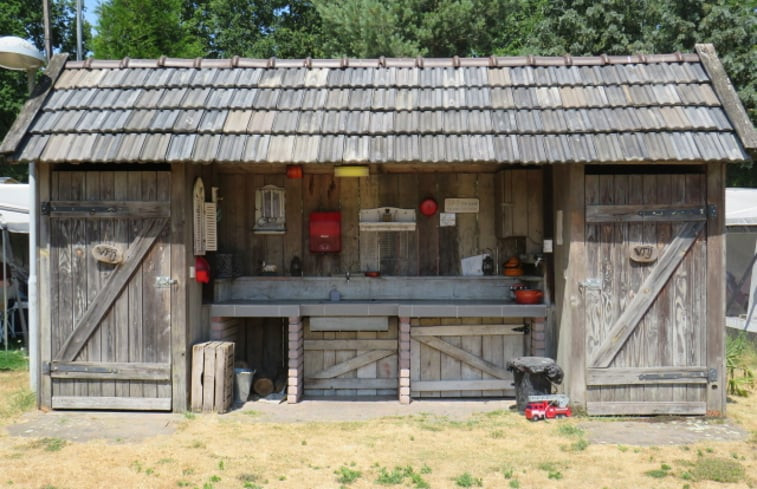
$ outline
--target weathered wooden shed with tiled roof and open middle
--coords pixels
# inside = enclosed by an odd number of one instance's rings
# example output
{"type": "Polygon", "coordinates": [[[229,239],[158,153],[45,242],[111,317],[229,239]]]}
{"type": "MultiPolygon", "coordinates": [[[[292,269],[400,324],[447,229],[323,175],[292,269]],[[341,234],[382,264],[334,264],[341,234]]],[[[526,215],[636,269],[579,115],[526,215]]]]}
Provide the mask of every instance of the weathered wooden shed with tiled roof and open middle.
{"type": "Polygon", "coordinates": [[[55,56],[0,147],[37,180],[40,403],[184,410],[226,339],[289,402],[512,396],[535,355],[590,414],[723,413],[725,166],[755,147],[708,45],[55,56]]]}

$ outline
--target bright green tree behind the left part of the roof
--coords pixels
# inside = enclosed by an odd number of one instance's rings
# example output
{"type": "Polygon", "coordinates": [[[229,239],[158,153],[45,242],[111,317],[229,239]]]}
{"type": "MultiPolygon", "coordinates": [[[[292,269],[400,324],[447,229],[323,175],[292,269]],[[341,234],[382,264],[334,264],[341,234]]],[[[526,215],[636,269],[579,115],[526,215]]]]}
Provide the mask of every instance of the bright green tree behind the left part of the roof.
{"type": "Polygon", "coordinates": [[[96,58],[192,58],[203,55],[182,0],[107,0],[97,7],[96,58]]]}

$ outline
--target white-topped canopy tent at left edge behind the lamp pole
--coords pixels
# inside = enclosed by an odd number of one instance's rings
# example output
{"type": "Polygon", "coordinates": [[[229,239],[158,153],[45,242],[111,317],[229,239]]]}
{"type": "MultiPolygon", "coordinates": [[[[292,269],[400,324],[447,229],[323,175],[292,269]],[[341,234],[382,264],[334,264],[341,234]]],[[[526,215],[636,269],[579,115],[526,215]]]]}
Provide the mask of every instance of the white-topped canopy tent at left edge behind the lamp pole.
{"type": "MultiPolygon", "coordinates": [[[[22,309],[25,305],[19,290],[22,281],[26,281],[27,274],[22,261],[14,259],[11,234],[29,234],[29,185],[20,183],[0,183],[0,281],[2,282],[2,338],[0,340],[8,347],[8,325],[15,310],[8,309],[8,299],[13,297],[13,308],[22,309]],[[7,279],[6,279],[7,278],[7,279]]],[[[23,237],[28,249],[28,238],[23,237]]],[[[16,246],[18,248],[18,246],[16,246]]],[[[19,314],[21,326],[26,334],[26,324],[23,313],[19,314]]],[[[15,330],[15,322],[13,329],[15,330]]]]}

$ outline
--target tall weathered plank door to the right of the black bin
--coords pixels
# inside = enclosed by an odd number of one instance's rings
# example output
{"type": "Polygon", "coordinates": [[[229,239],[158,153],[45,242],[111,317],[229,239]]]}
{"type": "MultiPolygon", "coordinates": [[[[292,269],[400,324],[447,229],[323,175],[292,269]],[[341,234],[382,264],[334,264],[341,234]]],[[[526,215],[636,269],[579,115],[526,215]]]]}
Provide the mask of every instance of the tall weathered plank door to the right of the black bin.
{"type": "Polygon", "coordinates": [[[705,414],[705,175],[585,178],[589,414],[705,414]]]}

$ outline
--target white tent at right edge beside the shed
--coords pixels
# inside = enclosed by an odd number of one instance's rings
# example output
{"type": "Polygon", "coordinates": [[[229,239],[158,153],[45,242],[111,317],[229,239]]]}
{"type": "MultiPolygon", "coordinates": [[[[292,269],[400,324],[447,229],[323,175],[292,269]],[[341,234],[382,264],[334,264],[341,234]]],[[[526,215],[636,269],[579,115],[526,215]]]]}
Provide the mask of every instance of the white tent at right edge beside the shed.
{"type": "Polygon", "coordinates": [[[729,326],[757,332],[757,189],[725,192],[729,326]]]}

